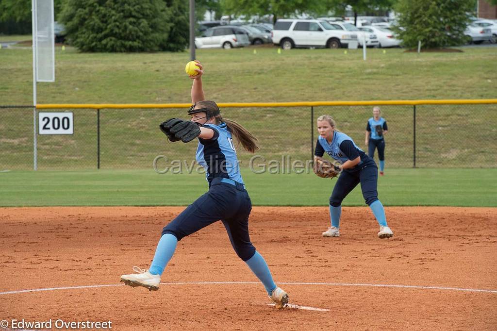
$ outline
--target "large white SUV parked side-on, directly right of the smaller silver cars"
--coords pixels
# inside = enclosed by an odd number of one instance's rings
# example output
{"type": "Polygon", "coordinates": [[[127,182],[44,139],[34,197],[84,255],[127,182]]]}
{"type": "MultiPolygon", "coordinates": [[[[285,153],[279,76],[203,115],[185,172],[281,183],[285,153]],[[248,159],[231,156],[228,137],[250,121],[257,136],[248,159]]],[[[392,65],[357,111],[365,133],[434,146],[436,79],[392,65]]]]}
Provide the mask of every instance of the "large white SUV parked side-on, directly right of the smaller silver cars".
{"type": "Polygon", "coordinates": [[[330,23],[318,19],[278,19],[274,24],[273,44],[283,49],[294,47],[346,47],[357,41],[357,33],[336,30],[330,23]]]}

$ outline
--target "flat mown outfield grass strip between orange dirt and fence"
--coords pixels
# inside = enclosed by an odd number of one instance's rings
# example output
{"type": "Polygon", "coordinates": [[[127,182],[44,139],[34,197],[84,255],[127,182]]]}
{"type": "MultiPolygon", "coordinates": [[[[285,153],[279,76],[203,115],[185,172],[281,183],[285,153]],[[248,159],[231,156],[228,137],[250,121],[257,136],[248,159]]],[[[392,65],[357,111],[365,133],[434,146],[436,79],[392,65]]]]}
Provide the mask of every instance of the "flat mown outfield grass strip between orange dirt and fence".
{"type": "MultiPolygon", "coordinates": [[[[497,169],[386,169],[378,180],[386,206],[497,207],[497,169]]],[[[336,180],[314,174],[243,171],[254,205],[326,206],[336,180]]],[[[203,174],[154,170],[0,173],[0,206],[187,205],[207,190],[203,174]]],[[[364,206],[356,187],[344,206],[364,206]]]]}

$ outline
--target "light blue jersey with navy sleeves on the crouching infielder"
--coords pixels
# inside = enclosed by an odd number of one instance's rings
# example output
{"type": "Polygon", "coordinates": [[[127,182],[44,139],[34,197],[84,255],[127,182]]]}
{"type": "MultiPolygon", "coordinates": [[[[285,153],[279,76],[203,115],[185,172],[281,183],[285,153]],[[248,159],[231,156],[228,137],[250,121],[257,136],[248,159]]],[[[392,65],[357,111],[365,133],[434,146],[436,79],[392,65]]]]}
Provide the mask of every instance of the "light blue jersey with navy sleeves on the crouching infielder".
{"type": "Polygon", "coordinates": [[[331,158],[340,161],[342,164],[347,160],[357,158],[357,156],[361,157],[361,162],[367,157],[364,151],[355,145],[352,138],[336,130],[333,132],[331,144],[328,143],[326,138],[321,136],[318,137],[314,155],[321,157],[325,152],[331,158]],[[343,142],[346,143],[342,144],[343,142]]]}

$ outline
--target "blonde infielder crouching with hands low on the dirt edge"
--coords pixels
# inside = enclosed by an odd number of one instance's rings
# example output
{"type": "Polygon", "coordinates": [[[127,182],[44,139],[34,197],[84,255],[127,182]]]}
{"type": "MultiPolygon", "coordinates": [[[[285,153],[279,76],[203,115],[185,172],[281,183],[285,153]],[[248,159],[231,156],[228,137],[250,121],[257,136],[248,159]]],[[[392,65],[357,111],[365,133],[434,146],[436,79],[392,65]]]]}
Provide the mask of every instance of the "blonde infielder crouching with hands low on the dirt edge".
{"type": "Polygon", "coordinates": [[[341,202],[358,183],[361,183],[362,196],[366,200],[380,225],[378,237],[390,238],[394,234],[387,225],[385,209],[378,200],[378,167],[373,159],[355,145],[352,138],[335,129],[335,122],[330,115],[318,117],[319,138],[314,152],[314,171],[319,173],[325,152],[334,160],[340,176],[330,197],[331,227],[323,233],[324,237],[340,236],[341,202]]]}

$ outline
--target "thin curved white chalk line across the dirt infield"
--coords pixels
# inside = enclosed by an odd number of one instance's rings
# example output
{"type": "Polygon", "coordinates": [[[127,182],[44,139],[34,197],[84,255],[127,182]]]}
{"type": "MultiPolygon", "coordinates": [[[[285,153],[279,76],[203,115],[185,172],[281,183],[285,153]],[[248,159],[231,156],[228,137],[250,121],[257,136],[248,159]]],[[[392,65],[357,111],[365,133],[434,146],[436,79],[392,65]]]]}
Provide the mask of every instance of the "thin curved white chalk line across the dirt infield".
{"type": "MultiPolygon", "coordinates": [[[[171,282],[161,283],[162,285],[248,285],[260,284],[260,282],[171,282]]],[[[449,291],[465,291],[465,292],[484,292],[484,293],[497,293],[497,290],[485,290],[474,288],[457,288],[457,287],[437,287],[437,286],[416,286],[416,285],[388,285],[388,284],[354,284],[354,283],[318,283],[318,282],[278,282],[281,285],[324,285],[324,286],[369,286],[369,287],[396,287],[396,288],[413,288],[423,290],[449,290],[449,291]]],[[[102,285],[83,285],[83,286],[67,286],[67,287],[48,287],[36,288],[31,290],[19,290],[0,292],[0,295],[5,294],[18,294],[28,292],[42,292],[42,291],[57,291],[57,290],[76,290],[81,288],[99,288],[99,287],[114,287],[125,286],[124,284],[102,284],[102,285]]]]}

